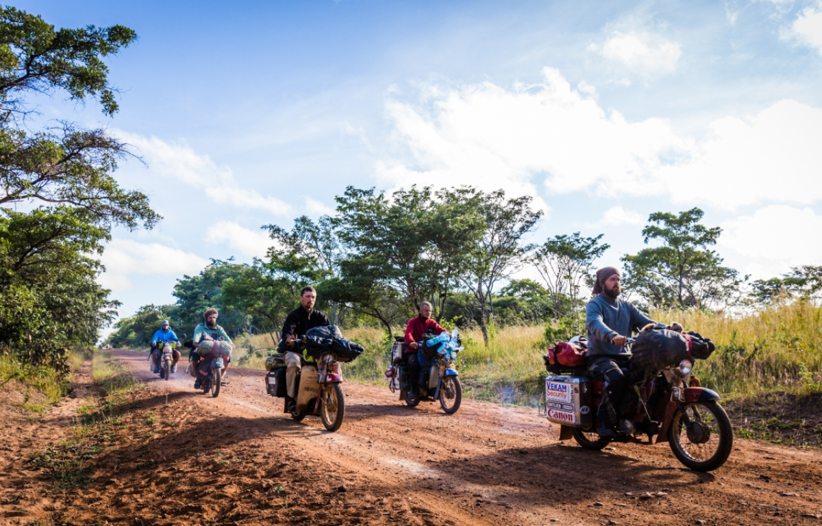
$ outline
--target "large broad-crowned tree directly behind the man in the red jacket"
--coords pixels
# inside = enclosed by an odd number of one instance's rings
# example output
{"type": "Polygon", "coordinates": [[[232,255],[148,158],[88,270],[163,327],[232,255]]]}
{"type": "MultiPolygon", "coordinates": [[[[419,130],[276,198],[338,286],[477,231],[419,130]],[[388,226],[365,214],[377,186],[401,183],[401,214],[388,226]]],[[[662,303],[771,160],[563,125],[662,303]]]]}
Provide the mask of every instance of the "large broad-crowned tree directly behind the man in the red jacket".
{"type": "Polygon", "coordinates": [[[459,283],[468,242],[482,232],[481,215],[431,187],[400,189],[390,200],[373,188],[348,187],[336,201],[333,223],[343,243],[340,270],[346,295],[374,299],[376,291],[391,290],[390,303],[402,298],[409,314],[433,300],[439,319],[450,290],[459,283]]]}

